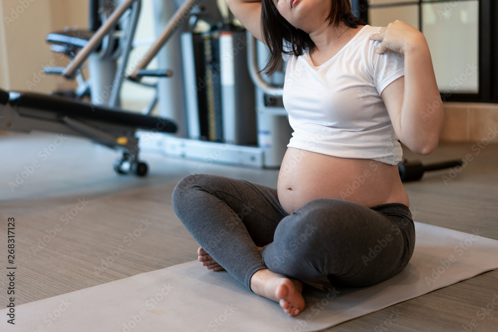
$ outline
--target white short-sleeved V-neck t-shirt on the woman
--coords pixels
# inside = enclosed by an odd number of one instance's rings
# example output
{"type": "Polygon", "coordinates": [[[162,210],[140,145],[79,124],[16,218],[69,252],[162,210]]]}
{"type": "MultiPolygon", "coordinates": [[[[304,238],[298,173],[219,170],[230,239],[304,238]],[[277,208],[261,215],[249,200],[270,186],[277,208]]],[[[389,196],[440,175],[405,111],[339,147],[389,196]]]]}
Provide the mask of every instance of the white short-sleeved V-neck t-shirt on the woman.
{"type": "Polygon", "coordinates": [[[283,104],[294,130],[288,147],[390,165],[401,161],[401,145],[380,93],[404,75],[404,56],[391,50],[375,53],[380,42],[370,35],[379,30],[365,25],[318,67],[306,50],[301,56],[282,53],[287,61],[283,104]]]}

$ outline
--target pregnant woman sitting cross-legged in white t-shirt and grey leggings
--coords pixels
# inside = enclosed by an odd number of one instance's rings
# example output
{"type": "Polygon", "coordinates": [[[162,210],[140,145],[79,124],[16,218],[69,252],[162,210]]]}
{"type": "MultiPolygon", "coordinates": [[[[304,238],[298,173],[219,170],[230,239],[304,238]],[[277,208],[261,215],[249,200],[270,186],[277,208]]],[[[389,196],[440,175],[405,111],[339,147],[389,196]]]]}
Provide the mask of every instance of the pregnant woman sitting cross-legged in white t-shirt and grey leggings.
{"type": "Polygon", "coordinates": [[[287,61],[283,102],[294,132],[276,189],[190,175],[173,207],[204,266],[226,269],[294,316],[305,306],[303,280],[368,286],[407,265],[415,231],[398,140],[433,151],[442,102],[427,42],[404,22],[363,25],[349,0],[228,5],[268,46],[266,73],[287,61]]]}

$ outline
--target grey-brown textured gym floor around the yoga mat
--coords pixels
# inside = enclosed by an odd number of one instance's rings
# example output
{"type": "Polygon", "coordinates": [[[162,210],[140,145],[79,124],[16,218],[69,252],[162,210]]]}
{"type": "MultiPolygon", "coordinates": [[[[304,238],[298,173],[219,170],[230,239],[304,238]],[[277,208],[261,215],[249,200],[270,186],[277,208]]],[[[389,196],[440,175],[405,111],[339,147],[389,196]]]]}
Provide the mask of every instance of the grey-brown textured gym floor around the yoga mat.
{"type": "MultiPolygon", "coordinates": [[[[198,244],[171,207],[185,175],[202,170],[272,187],[278,175],[142,153],[146,178],[118,176],[118,151],[53,133],[4,133],[0,153],[0,238],[15,218],[17,305],[196,260],[198,244]]],[[[405,184],[414,220],[498,239],[498,145],[441,143],[428,156],[404,148],[404,158],[424,164],[466,157],[465,167],[405,184]]],[[[478,313],[497,285],[498,270],[483,273],[325,331],[469,331],[474,319],[472,331],[496,331],[498,307],[478,313]]]]}

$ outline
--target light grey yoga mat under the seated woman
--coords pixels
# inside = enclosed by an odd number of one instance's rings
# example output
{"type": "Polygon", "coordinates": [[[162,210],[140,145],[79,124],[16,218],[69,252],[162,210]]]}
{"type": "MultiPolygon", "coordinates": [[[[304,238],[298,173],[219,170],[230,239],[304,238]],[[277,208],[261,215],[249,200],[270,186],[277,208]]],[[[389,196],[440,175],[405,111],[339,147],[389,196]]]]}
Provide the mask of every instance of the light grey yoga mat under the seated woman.
{"type": "Polygon", "coordinates": [[[15,325],[1,310],[0,331],[320,331],[498,268],[498,240],[479,229],[415,228],[415,252],[398,275],[365,288],[306,285],[306,308],[294,318],[226,271],[192,261],[17,306],[15,325]]]}

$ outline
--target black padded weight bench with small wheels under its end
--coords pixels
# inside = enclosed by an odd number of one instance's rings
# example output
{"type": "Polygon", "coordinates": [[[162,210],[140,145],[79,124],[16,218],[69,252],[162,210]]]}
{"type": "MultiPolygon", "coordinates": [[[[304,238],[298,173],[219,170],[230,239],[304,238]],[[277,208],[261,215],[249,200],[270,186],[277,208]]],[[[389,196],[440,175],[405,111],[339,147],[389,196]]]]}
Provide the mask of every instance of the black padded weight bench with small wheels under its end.
{"type": "Polygon", "coordinates": [[[118,174],[145,176],[147,164],[138,160],[137,129],[176,132],[170,120],[121,109],[47,96],[0,89],[0,130],[44,130],[83,136],[113,149],[123,150],[114,164],[118,174]]]}

